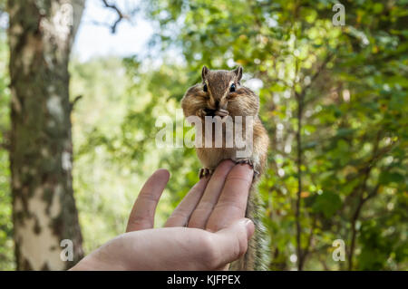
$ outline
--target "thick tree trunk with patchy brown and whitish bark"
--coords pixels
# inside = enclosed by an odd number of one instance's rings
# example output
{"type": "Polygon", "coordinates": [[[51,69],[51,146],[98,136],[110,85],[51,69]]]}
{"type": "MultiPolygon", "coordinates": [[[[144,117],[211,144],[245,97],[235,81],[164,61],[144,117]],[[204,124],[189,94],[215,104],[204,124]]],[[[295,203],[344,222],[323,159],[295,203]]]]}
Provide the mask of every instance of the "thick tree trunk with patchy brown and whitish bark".
{"type": "Polygon", "coordinates": [[[73,198],[68,73],[83,6],[84,0],[8,1],[18,270],[63,270],[83,256],[73,198]],[[73,261],[61,257],[63,239],[73,242],[73,261]]]}

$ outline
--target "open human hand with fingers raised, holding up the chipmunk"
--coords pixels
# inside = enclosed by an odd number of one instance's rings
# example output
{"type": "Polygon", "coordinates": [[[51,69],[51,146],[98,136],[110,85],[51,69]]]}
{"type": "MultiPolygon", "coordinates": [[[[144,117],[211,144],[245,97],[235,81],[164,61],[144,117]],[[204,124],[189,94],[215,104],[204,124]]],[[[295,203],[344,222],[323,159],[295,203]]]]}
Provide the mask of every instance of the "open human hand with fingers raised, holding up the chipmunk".
{"type": "Polygon", "coordinates": [[[83,258],[71,270],[217,270],[243,255],[254,232],[244,218],[252,181],[248,165],[224,161],[201,178],[165,227],[154,213],[170,178],[157,170],[141,188],[125,234],[83,258]],[[186,227],[187,225],[187,227],[186,227]]]}

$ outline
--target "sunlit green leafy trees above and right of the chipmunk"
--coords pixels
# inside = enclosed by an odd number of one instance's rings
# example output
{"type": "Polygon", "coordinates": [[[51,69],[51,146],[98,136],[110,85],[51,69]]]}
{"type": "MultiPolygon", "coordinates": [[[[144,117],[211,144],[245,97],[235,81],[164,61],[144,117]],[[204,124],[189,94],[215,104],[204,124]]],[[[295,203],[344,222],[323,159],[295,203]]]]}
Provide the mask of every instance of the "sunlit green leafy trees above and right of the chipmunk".
{"type": "Polygon", "coordinates": [[[271,269],[406,268],[408,10],[347,1],[346,25],[335,27],[334,4],[163,0],[146,9],[161,27],[155,42],[182,51],[191,82],[203,64],[241,64],[248,84],[261,83],[271,269]],[[331,258],[338,238],[346,264],[331,258]]]}

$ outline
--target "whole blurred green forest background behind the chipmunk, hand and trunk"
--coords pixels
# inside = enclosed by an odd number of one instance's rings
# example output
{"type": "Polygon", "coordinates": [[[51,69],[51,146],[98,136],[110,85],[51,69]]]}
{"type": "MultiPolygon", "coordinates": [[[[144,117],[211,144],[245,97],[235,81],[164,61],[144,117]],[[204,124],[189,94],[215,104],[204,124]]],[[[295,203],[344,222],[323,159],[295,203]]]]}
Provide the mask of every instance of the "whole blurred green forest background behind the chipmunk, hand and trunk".
{"type": "MultiPolygon", "coordinates": [[[[154,27],[143,53],[87,61],[73,54],[69,62],[73,196],[85,254],[124,231],[142,183],[160,167],[171,178],[156,226],[170,216],[198,181],[199,161],[193,149],[157,149],[155,121],[175,120],[202,65],[239,64],[271,140],[259,186],[270,269],[408,269],[408,1],[343,0],[343,26],[332,23],[337,1],[328,0],[131,3],[131,17],[154,27]],[[332,258],[335,239],[345,241],[345,262],[332,258]]],[[[7,13],[5,1],[0,11],[7,13]]],[[[14,253],[9,56],[3,27],[2,270],[24,268],[14,253]]]]}

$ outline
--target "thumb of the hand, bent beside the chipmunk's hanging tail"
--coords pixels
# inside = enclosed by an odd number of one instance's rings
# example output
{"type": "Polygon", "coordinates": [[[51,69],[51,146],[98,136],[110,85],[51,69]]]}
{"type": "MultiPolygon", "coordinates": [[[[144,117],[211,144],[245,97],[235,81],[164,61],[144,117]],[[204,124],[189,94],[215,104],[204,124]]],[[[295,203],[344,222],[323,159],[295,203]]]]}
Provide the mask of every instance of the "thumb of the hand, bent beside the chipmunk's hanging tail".
{"type": "Polygon", "coordinates": [[[248,249],[248,241],[254,232],[254,223],[248,218],[241,218],[215,233],[219,252],[222,252],[219,254],[219,266],[227,265],[244,255],[248,249]]]}

